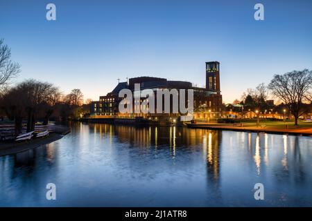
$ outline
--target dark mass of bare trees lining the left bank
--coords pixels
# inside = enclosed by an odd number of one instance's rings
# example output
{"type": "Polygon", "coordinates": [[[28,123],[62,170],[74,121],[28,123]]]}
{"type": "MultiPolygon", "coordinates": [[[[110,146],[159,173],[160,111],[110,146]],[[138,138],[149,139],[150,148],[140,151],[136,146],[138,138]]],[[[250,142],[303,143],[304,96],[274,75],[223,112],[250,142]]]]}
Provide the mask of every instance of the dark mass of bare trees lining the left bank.
{"type": "Polygon", "coordinates": [[[55,120],[78,119],[88,113],[80,89],[73,89],[65,95],[57,86],[36,79],[10,85],[10,79],[20,70],[19,64],[11,60],[10,48],[0,40],[0,116],[3,119],[5,115],[15,122],[15,135],[21,133],[24,121],[27,132],[31,132],[38,119],[48,124],[51,117],[55,120]]]}

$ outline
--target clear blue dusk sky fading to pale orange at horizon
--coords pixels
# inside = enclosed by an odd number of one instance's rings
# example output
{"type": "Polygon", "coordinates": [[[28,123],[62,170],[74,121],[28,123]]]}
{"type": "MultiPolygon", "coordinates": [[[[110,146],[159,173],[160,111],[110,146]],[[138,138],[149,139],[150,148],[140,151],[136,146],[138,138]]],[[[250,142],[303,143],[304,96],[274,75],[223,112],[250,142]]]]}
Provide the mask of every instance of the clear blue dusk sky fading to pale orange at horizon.
{"type": "Polygon", "coordinates": [[[126,77],[205,86],[220,62],[223,102],[275,74],[312,70],[312,1],[0,0],[0,38],[21,64],[15,83],[49,81],[98,100],[126,77]],[[46,20],[46,5],[56,20],[46,20]],[[254,19],[254,5],[264,20],[254,19]]]}

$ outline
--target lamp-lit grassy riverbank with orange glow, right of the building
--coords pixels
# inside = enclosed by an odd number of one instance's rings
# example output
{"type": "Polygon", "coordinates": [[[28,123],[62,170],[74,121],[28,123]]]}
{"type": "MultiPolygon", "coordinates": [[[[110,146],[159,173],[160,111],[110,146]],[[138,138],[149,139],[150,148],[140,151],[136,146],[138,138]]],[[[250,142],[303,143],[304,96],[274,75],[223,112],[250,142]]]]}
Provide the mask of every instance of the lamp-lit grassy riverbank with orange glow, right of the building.
{"type": "Polygon", "coordinates": [[[197,124],[187,124],[189,128],[202,128],[202,129],[214,129],[223,131],[247,131],[247,132],[264,132],[264,133],[274,133],[283,135],[302,135],[312,137],[312,127],[298,127],[298,128],[274,128],[274,127],[259,127],[250,126],[244,124],[209,124],[209,123],[197,123],[197,124]]]}

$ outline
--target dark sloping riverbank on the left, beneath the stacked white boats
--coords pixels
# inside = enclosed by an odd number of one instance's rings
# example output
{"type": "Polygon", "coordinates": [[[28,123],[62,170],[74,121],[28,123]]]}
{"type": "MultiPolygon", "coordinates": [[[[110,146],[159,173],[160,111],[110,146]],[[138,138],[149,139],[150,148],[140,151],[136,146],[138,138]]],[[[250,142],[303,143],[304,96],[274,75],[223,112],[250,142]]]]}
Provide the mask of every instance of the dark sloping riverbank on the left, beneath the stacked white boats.
{"type": "Polygon", "coordinates": [[[25,141],[25,142],[1,142],[0,143],[0,156],[10,155],[14,153],[19,153],[23,151],[27,151],[33,148],[37,148],[38,146],[44,144],[50,144],[51,142],[55,142],[56,140],[60,140],[64,135],[58,133],[51,133],[48,137],[35,138],[33,140],[25,141]]]}

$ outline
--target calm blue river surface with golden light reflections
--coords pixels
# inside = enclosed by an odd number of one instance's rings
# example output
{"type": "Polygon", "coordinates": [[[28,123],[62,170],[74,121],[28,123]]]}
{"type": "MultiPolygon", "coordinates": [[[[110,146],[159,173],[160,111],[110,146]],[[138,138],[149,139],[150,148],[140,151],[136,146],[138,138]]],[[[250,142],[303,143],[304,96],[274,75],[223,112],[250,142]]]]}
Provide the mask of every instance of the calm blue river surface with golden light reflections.
{"type": "Polygon", "coordinates": [[[62,140],[0,157],[0,206],[312,206],[311,148],[311,137],[73,124],[62,140]]]}

